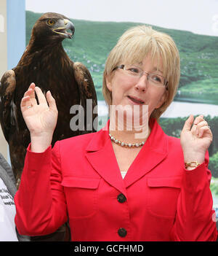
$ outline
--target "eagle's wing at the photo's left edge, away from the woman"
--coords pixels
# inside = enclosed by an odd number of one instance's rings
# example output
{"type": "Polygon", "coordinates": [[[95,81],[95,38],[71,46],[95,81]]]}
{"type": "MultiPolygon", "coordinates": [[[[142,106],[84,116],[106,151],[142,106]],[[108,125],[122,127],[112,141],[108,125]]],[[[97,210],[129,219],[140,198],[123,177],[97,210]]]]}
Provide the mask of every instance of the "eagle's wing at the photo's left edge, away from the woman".
{"type": "Polygon", "coordinates": [[[15,71],[6,71],[0,82],[0,123],[5,139],[9,142],[11,125],[15,123],[12,98],[16,88],[15,71]]]}

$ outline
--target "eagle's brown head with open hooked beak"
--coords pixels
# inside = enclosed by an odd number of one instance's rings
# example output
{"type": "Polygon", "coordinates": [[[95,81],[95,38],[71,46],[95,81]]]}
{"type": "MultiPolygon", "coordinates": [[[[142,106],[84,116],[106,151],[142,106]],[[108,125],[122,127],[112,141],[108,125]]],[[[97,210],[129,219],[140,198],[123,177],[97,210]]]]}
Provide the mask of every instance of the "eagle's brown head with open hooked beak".
{"type": "Polygon", "coordinates": [[[65,38],[71,39],[74,31],[73,23],[64,15],[47,12],[36,21],[31,37],[34,41],[49,44],[62,42],[65,38]]]}

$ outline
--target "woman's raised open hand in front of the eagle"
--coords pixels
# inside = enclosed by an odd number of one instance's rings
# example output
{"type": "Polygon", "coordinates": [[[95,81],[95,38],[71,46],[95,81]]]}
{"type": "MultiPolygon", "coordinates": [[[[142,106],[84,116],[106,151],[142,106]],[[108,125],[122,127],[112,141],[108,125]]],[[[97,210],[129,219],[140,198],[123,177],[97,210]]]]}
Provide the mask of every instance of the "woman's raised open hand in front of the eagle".
{"type": "Polygon", "coordinates": [[[20,109],[31,133],[31,150],[43,152],[51,144],[57,124],[55,98],[52,97],[50,91],[47,92],[45,97],[41,89],[31,83],[22,98],[20,109]],[[39,104],[37,104],[35,92],[39,104]]]}

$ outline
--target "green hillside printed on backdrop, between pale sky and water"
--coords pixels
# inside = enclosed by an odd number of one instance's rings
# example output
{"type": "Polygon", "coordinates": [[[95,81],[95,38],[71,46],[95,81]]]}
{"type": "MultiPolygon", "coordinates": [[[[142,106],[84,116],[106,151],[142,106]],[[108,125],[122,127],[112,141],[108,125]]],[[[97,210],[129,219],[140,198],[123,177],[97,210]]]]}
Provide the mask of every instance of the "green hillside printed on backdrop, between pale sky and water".
{"type": "MultiPolygon", "coordinates": [[[[29,42],[31,29],[40,16],[41,13],[26,11],[26,44],[29,42]]],[[[108,53],[127,28],[142,23],[70,20],[73,21],[76,31],[73,40],[64,40],[65,51],[73,61],[80,61],[89,69],[97,97],[103,100],[102,73],[108,53]]],[[[175,99],[218,104],[218,36],[152,27],[169,34],[179,49],[181,79],[175,99]]]]}

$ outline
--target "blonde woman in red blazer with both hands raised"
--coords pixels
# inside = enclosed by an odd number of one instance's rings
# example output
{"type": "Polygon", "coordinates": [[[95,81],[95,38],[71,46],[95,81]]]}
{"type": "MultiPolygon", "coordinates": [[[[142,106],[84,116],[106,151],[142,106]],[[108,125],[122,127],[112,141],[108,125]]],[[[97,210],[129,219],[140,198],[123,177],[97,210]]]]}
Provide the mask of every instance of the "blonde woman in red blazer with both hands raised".
{"type": "Polygon", "coordinates": [[[110,121],[53,149],[55,99],[31,84],[21,101],[31,144],[15,195],[19,232],[45,235],[69,218],[73,241],[215,241],[210,128],[203,116],[190,115],[179,140],[157,122],[178,82],[171,37],[130,28],[105,65],[110,121]]]}

